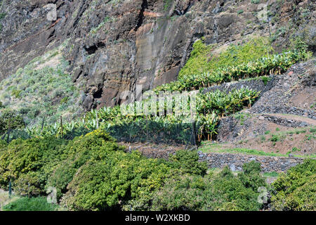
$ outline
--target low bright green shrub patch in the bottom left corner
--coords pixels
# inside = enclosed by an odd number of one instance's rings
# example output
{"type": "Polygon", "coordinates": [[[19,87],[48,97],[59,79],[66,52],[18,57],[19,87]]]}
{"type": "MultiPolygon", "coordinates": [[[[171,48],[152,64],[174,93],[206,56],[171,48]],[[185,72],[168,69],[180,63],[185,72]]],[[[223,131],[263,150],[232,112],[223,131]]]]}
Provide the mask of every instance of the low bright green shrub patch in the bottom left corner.
{"type": "Polygon", "coordinates": [[[47,203],[46,198],[20,198],[3,207],[4,211],[55,211],[58,205],[47,203]]]}

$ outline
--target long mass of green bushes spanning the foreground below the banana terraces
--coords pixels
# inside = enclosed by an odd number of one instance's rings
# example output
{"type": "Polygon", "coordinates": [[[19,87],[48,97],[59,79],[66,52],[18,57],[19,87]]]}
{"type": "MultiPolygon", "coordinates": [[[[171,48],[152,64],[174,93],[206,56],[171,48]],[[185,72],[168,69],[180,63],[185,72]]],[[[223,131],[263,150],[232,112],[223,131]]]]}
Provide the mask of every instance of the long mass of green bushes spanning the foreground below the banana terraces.
{"type": "MultiPolygon", "coordinates": [[[[258,166],[246,167],[242,176],[228,168],[206,174],[196,151],[180,150],[169,161],[148,159],[125,153],[96,130],[72,141],[51,137],[2,143],[0,187],[7,188],[11,179],[15,193],[37,196],[54,186],[61,205],[70,210],[258,210],[255,189],[262,178],[258,166]],[[195,201],[183,199],[183,192],[195,201]]],[[[6,208],[20,209],[18,205],[6,208]]]]}

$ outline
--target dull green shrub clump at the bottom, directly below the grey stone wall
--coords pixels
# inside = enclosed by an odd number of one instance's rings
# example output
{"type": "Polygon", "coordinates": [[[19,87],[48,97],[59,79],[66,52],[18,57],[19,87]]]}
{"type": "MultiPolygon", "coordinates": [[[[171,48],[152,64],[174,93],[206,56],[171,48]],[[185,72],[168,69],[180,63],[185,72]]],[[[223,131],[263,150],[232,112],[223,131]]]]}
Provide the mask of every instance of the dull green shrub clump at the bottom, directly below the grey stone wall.
{"type": "Polygon", "coordinates": [[[154,194],[152,210],[259,210],[256,191],[244,186],[239,176],[225,167],[215,176],[168,179],[154,194]]]}

